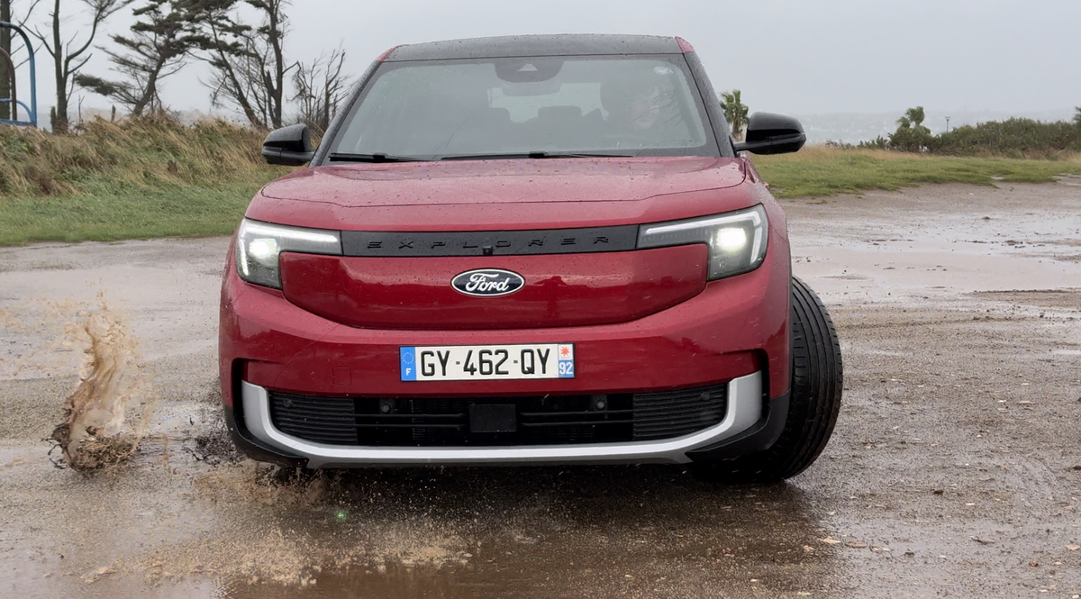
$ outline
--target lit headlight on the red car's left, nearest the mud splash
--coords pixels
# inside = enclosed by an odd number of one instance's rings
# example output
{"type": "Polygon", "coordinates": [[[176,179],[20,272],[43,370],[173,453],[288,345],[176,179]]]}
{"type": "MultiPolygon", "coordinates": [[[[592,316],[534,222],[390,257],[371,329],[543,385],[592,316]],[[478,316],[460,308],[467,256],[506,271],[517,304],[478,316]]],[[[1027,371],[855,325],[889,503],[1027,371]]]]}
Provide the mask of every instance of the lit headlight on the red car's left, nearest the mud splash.
{"type": "Polygon", "coordinates": [[[257,285],[281,289],[282,252],[342,255],[338,231],[268,225],[244,218],[237,231],[237,272],[257,285]]]}

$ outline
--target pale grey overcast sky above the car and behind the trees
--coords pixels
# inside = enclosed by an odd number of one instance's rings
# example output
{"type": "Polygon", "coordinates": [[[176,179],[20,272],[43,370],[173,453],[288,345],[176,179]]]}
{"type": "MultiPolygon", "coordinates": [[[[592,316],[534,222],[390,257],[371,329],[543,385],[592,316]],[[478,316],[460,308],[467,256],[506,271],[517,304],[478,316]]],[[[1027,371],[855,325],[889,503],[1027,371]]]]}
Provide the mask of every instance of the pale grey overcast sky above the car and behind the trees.
{"type": "MultiPolygon", "coordinates": [[[[15,0],[16,9],[26,2],[15,0]]],[[[356,75],[400,43],[651,34],[688,39],[713,86],[742,90],[752,111],[900,112],[923,105],[1032,112],[1081,105],[1081,0],[294,0],[289,16],[291,59],[311,59],[341,42],[356,75]]],[[[118,16],[109,29],[130,23],[118,16]]],[[[109,42],[101,36],[99,43],[109,42]]],[[[54,104],[48,59],[39,53],[44,122],[54,104]]],[[[166,80],[166,104],[209,111],[202,68],[192,63],[166,80]]],[[[86,72],[107,69],[96,52],[86,72]]],[[[86,107],[109,106],[88,92],[78,95],[86,107]]]]}

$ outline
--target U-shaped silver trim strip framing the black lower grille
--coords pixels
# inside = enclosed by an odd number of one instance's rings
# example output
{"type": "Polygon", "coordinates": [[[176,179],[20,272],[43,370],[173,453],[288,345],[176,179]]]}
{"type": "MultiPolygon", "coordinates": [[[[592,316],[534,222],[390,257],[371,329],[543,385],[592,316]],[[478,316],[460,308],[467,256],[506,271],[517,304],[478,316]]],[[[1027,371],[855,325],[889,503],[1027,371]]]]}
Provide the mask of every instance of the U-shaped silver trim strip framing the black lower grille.
{"type": "Polygon", "coordinates": [[[686,452],[723,441],[750,428],[762,415],[762,373],[729,383],[724,421],[705,430],[675,439],[631,443],[519,445],[493,448],[384,448],[328,445],[285,435],[270,423],[267,390],[241,383],[244,424],[256,439],[301,455],[309,468],[332,466],[410,466],[441,464],[685,464],[686,452]]]}

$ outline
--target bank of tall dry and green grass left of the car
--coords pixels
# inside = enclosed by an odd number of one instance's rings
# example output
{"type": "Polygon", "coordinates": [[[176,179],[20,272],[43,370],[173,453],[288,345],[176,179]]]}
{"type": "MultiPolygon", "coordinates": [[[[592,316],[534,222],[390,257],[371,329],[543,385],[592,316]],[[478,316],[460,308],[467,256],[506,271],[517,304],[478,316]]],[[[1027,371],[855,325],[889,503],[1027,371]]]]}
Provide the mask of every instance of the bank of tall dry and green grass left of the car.
{"type": "Polygon", "coordinates": [[[75,135],[0,125],[0,245],[227,235],[289,172],[224,121],[95,120],[75,135]]]}

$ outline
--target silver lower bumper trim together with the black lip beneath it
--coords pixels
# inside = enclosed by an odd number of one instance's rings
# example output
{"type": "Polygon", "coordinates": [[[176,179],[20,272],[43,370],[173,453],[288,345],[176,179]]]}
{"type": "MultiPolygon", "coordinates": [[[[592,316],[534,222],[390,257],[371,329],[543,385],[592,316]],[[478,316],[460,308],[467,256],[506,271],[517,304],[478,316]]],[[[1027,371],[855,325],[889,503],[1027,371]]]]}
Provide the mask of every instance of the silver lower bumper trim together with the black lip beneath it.
{"type": "MultiPolygon", "coordinates": [[[[675,439],[629,443],[545,447],[376,448],[315,443],[278,430],[271,423],[268,392],[241,383],[241,418],[230,423],[233,438],[262,460],[309,468],[419,465],[685,464],[731,458],[773,444],[787,414],[787,396],[764,404],[759,372],[729,383],[724,420],[675,439]]],[[[230,418],[232,420],[232,418],[230,418]]]]}

